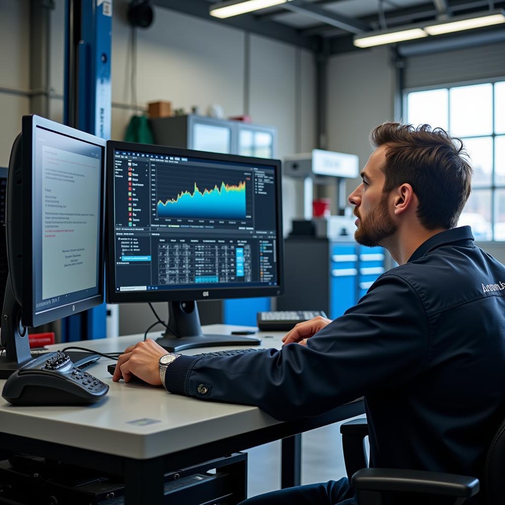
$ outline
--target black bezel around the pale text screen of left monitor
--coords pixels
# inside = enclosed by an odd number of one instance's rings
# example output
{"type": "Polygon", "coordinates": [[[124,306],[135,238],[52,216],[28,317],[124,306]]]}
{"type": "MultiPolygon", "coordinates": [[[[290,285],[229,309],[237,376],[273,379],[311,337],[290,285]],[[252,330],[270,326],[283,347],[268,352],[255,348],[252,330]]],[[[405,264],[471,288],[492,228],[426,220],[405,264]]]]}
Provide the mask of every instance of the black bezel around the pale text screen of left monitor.
{"type": "Polygon", "coordinates": [[[24,326],[34,327],[41,324],[51,323],[63,317],[71,316],[79,312],[91,309],[104,302],[104,262],[105,262],[105,184],[106,184],[106,160],[107,141],[103,138],[76,130],[69,126],[56,123],[40,116],[23,116],[22,119],[22,180],[23,180],[23,288],[22,288],[22,315],[21,321],[24,326]],[[102,163],[100,164],[100,211],[98,230],[98,293],[83,300],[70,304],[47,309],[36,313],[35,307],[35,276],[34,263],[35,251],[33,250],[34,223],[33,216],[33,152],[35,149],[35,132],[40,127],[45,130],[88,142],[102,148],[102,163]],[[28,204],[29,203],[29,204],[28,204]],[[27,205],[26,205],[27,204],[27,205]]]}

